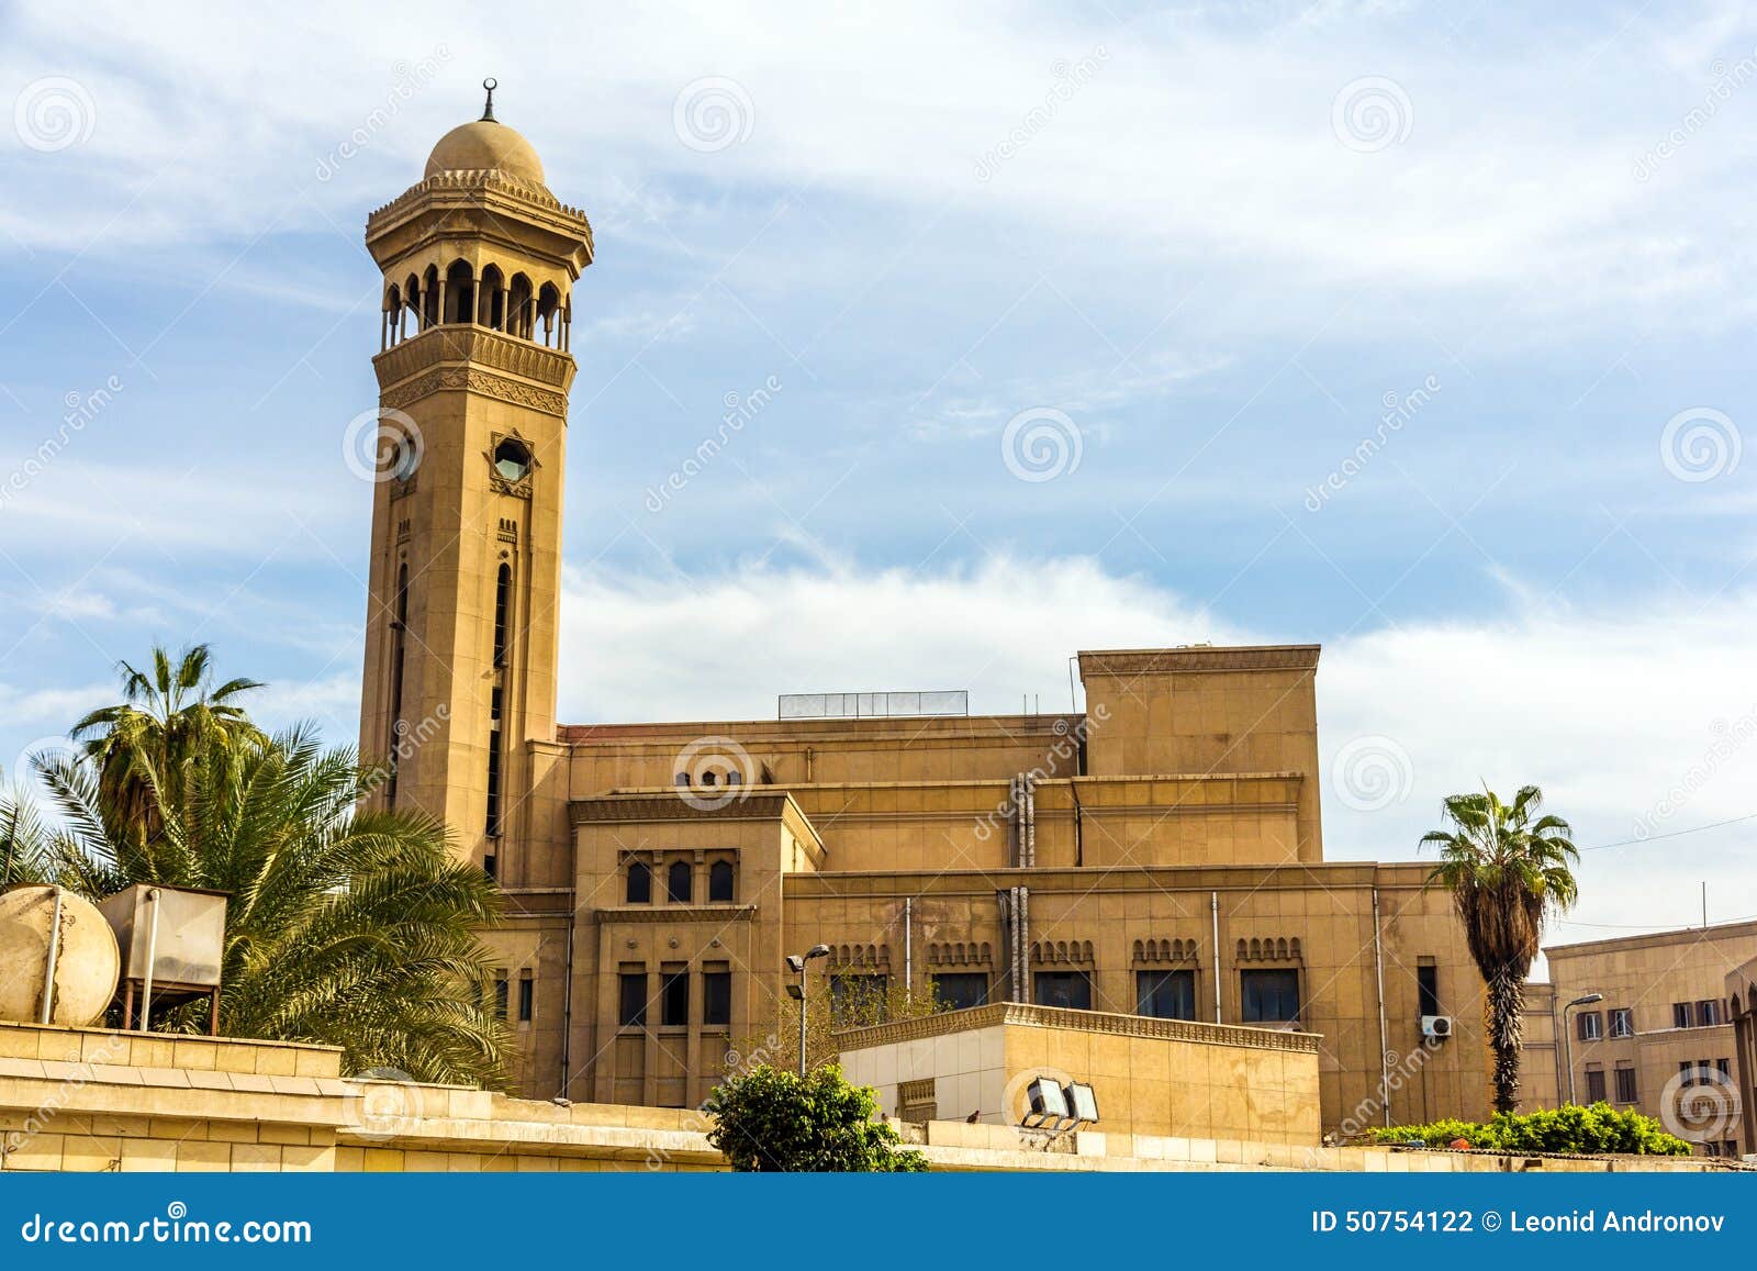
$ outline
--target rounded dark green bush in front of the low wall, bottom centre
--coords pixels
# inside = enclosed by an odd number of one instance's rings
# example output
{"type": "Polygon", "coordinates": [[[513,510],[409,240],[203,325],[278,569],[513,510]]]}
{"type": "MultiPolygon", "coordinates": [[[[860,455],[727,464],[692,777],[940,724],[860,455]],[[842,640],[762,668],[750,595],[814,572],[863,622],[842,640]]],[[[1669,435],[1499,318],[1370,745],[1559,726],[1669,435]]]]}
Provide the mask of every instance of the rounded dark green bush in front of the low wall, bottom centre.
{"type": "Polygon", "coordinates": [[[901,1136],[877,1120],[870,1086],[854,1086],[835,1064],[798,1072],[754,1067],[727,1078],[703,1109],[713,1116],[708,1143],[747,1173],[901,1174],[928,1167],[900,1148],[901,1136]]]}

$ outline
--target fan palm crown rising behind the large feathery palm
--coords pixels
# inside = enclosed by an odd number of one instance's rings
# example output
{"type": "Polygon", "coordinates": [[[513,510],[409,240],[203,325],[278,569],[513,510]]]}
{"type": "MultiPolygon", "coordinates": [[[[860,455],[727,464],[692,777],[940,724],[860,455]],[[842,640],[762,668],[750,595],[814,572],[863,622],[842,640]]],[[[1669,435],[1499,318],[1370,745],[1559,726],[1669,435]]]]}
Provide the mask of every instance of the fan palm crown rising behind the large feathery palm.
{"type": "Polygon", "coordinates": [[[213,684],[207,645],[177,654],[153,647],[148,672],[119,663],[123,700],[93,710],[72,728],[72,740],[97,763],[116,846],[141,856],[151,877],[165,809],[183,798],[184,775],[209,747],[258,744],[239,698],[257,680],[213,684]]]}

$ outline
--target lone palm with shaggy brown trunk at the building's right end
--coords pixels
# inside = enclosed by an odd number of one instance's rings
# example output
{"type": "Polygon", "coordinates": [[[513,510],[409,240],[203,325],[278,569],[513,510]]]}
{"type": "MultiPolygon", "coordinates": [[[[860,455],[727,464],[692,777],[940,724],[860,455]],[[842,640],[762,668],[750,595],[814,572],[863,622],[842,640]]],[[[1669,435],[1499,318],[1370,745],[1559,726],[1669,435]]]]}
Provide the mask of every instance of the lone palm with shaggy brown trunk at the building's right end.
{"type": "Polygon", "coordinates": [[[1488,986],[1488,1046],[1495,1057],[1495,1111],[1518,1108],[1525,976],[1544,919],[1580,897],[1569,868],[1580,861],[1573,828],[1537,816],[1543,791],[1522,786],[1511,803],[1490,789],[1453,795],[1442,805],[1450,830],[1421,835],[1439,847],[1430,886],[1451,891],[1464,939],[1488,986]],[[1536,819],[1534,819],[1536,817],[1536,819]]]}

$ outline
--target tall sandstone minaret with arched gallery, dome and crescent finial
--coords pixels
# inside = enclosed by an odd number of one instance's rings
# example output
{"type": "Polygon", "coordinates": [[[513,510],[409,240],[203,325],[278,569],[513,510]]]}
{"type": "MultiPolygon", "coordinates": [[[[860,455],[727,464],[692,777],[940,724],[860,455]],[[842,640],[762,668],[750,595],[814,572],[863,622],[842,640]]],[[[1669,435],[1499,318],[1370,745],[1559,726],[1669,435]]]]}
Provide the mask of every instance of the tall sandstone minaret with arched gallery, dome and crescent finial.
{"type": "Polygon", "coordinates": [[[592,227],[494,118],[434,146],[374,211],[385,274],[360,754],[378,807],[445,819],[488,872],[525,868],[529,742],[555,740],[573,285],[592,227]]]}

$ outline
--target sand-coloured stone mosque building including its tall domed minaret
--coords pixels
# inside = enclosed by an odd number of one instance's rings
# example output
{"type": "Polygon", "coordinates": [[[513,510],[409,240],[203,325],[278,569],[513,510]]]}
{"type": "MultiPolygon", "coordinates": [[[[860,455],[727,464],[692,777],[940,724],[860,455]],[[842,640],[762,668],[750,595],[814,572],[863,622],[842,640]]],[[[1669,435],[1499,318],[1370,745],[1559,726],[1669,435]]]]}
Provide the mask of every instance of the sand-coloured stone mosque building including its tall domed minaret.
{"type": "Polygon", "coordinates": [[[522,1093],[694,1106],[775,1018],[785,955],[828,944],[813,993],[1318,1034],[1325,1129],[1385,1123],[1381,1088],[1393,1123],[1486,1115],[1483,986],[1450,898],[1423,890],[1427,863],[1325,860],[1316,645],[1086,650],[1068,714],[873,694],[562,723],[592,227],[490,97],[365,241],[397,436],[362,754],[387,765],[381,805],[443,817],[506,890],[488,941],[522,1093]]]}

